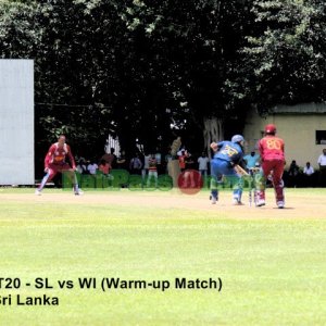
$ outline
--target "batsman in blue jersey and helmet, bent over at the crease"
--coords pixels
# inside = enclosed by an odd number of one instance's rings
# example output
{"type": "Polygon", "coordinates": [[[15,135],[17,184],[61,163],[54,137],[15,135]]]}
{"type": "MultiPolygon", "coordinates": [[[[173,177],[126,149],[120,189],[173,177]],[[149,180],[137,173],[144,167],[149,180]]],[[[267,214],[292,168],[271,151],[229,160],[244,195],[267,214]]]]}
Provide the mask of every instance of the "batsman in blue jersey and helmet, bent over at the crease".
{"type": "Polygon", "coordinates": [[[214,151],[214,158],[211,161],[211,201],[213,204],[218,200],[217,187],[222,178],[231,184],[234,204],[242,204],[243,180],[235,172],[234,166],[236,164],[243,166],[243,145],[244,138],[241,135],[235,135],[230,141],[211,143],[214,151]]]}

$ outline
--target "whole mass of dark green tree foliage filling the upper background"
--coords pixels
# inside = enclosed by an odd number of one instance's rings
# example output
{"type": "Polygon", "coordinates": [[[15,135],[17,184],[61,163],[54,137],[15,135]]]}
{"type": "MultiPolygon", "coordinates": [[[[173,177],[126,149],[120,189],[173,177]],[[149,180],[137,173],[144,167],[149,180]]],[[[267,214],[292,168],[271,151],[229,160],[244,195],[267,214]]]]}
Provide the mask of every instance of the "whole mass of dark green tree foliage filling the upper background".
{"type": "MultiPolygon", "coordinates": [[[[35,60],[37,155],[59,133],[99,156],[106,135],[165,151],[202,145],[204,117],[324,101],[323,1],[0,2],[1,58],[35,60]]],[[[86,152],[83,152],[86,151],[86,152]]]]}

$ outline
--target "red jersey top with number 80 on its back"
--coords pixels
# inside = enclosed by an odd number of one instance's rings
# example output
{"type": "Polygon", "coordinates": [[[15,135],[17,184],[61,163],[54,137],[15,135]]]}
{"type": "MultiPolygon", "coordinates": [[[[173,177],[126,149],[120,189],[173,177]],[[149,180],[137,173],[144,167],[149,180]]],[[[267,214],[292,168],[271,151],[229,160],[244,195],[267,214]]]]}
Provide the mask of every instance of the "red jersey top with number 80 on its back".
{"type": "Polygon", "coordinates": [[[262,161],[285,161],[284,140],[279,137],[267,135],[259,142],[262,161]]]}

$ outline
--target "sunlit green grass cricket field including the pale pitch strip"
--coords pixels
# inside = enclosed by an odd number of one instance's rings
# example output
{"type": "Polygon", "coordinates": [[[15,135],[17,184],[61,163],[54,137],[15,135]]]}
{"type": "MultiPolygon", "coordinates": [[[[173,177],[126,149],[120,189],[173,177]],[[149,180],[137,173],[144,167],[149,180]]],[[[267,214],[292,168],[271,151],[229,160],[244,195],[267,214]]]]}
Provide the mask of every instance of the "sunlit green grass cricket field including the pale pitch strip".
{"type": "Polygon", "coordinates": [[[75,198],[46,189],[36,198],[32,189],[0,189],[1,325],[326,325],[326,189],[288,189],[291,210],[261,213],[228,202],[196,208],[206,192],[188,196],[189,208],[163,191],[75,198]],[[321,215],[300,212],[304,200],[321,215]],[[97,288],[80,289],[84,277],[97,288]],[[168,280],[171,288],[103,292],[104,277],[168,280]],[[175,289],[176,277],[221,278],[223,287],[175,289]],[[20,288],[5,289],[5,278],[20,278],[20,288]],[[53,288],[35,288],[36,278],[53,288]],[[17,293],[58,297],[59,306],[16,305],[17,293]]]}

